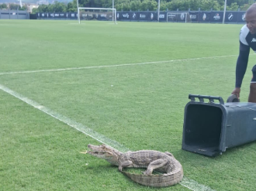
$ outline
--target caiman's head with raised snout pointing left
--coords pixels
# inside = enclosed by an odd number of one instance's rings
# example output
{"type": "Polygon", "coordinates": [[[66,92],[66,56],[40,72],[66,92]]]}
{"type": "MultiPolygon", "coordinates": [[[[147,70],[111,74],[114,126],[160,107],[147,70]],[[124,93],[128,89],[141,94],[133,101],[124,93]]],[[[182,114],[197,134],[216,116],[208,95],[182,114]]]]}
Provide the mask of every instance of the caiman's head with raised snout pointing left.
{"type": "Polygon", "coordinates": [[[96,156],[100,159],[105,159],[106,161],[110,162],[112,165],[119,165],[119,156],[122,154],[115,148],[112,148],[108,145],[88,145],[89,155],[96,156]]]}

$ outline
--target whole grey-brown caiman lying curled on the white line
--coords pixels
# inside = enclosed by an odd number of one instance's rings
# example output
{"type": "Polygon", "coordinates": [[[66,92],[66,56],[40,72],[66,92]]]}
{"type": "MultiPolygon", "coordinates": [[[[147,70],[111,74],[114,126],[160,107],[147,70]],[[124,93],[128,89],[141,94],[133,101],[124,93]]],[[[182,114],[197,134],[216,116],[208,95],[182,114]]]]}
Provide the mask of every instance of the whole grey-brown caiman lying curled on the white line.
{"type": "MultiPolygon", "coordinates": [[[[108,145],[88,145],[89,155],[106,159],[112,165],[117,165],[120,172],[144,186],[166,187],[180,182],[183,178],[182,165],[170,152],[141,150],[137,152],[119,152],[108,145]],[[145,168],[143,174],[133,174],[123,171],[123,168],[145,168]],[[153,170],[163,174],[152,174],[153,170]]],[[[84,153],[84,152],[82,152],[84,153]]]]}

